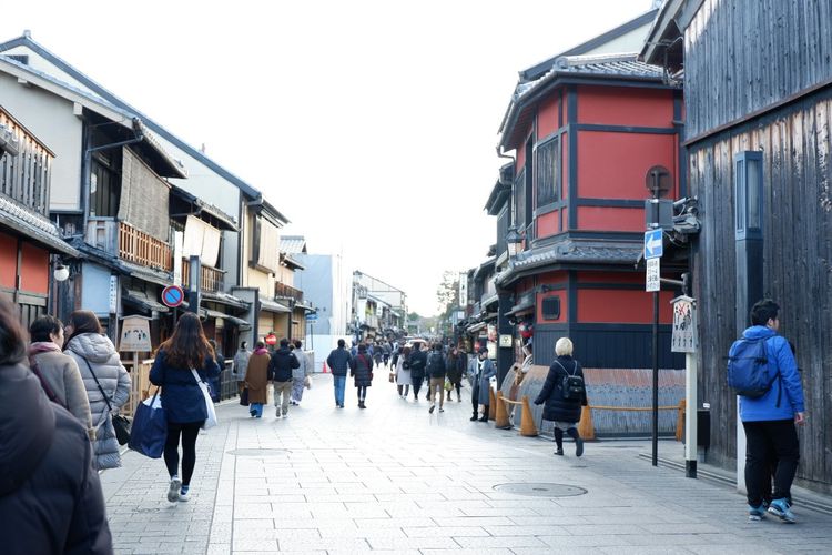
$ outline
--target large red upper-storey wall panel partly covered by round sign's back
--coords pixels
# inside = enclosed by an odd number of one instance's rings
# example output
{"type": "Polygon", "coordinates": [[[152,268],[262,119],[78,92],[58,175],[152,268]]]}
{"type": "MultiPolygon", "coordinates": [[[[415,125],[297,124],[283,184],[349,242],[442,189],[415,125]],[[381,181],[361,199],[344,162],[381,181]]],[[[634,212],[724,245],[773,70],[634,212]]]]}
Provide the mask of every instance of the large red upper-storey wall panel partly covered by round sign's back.
{"type": "Polygon", "coordinates": [[[578,195],[590,199],[647,199],[645,174],[663,165],[673,174],[678,196],[676,137],[646,133],[578,133],[578,195]]]}

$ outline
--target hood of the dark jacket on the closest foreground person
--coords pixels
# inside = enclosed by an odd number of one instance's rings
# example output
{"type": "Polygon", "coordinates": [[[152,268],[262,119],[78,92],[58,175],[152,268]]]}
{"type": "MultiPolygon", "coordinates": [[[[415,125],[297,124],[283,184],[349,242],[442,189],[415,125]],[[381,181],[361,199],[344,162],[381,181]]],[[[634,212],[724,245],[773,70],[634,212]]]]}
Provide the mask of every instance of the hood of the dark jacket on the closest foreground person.
{"type": "Polygon", "coordinates": [[[52,404],[38,377],[22,364],[0,366],[0,497],[38,468],[54,426],[52,404]]]}

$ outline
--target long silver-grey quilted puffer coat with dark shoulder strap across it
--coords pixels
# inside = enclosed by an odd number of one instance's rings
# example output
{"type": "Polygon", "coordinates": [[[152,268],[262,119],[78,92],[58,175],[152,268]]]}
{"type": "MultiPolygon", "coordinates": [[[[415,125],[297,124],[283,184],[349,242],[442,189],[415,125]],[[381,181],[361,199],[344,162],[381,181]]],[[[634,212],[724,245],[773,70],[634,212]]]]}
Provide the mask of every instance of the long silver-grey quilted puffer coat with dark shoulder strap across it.
{"type": "Polygon", "coordinates": [[[106,335],[82,333],[67,344],[65,354],[75,360],[78,370],[84,381],[87,397],[90,400],[92,427],[95,430],[95,468],[116,468],[121,466],[119,442],[115,438],[112,414],[104,396],[101,394],[92,372],[95,373],[101,389],[110,398],[113,412],[130,398],[130,375],[121,364],[119,353],[106,335]],[[92,370],[90,370],[92,369],[92,370]]]}

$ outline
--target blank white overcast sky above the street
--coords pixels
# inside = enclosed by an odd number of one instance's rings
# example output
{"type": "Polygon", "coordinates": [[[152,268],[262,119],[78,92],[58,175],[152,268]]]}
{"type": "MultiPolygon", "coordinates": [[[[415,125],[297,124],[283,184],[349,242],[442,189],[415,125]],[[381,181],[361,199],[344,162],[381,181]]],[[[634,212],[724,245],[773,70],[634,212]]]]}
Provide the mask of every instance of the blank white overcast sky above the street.
{"type": "Polygon", "coordinates": [[[263,191],[312,253],[437,312],[485,260],[517,72],[652,0],[6,1],[32,38],[263,191]]]}

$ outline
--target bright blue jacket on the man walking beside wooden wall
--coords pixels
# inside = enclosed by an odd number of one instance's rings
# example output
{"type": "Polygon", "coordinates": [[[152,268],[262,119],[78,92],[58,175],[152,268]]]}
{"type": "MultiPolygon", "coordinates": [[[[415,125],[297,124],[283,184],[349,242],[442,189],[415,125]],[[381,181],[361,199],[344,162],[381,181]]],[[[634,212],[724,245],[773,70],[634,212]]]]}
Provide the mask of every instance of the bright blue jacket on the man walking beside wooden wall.
{"type": "Polygon", "coordinates": [[[794,355],[785,337],[764,325],[751,326],[742,332],[742,336],[747,339],[769,337],[765,340],[769,367],[780,370],[780,377],[774,380],[771,390],[765,395],[759,398],[740,397],[742,422],[792,420],[794,413],[805,411],[798,364],[794,362],[794,355]],[[778,394],[780,394],[780,407],[777,406],[778,394]]]}

